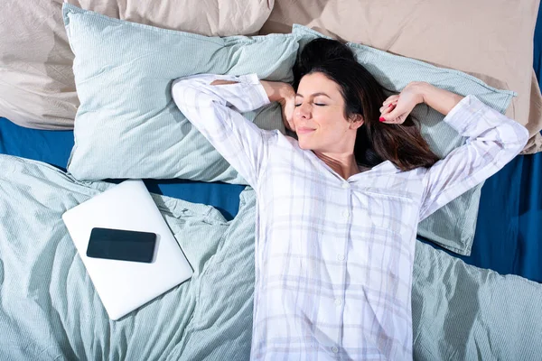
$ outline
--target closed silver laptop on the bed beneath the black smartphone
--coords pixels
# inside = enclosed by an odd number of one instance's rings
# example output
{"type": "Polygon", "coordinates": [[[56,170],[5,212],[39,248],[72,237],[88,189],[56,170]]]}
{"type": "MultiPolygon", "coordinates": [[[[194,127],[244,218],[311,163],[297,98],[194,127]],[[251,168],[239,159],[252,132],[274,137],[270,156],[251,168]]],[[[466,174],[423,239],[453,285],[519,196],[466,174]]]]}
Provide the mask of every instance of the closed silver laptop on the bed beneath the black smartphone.
{"type": "Polygon", "coordinates": [[[125,180],[62,215],[110,319],[120,319],[192,277],[192,267],[142,180],[125,180]],[[87,256],[93,227],[156,234],[152,263],[87,256]]]}

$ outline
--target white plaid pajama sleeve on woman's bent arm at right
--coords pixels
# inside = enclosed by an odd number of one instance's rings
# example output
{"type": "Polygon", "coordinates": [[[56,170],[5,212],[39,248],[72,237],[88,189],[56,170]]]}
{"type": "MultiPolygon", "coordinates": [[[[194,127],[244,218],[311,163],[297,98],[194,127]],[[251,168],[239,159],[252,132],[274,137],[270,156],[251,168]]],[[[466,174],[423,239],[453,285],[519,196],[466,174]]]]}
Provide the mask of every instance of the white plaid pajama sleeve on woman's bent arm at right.
{"type": "Polygon", "coordinates": [[[474,96],[464,97],[444,121],[466,136],[467,141],[425,172],[420,221],[490,178],[518,155],[528,141],[523,125],[474,96]]]}

